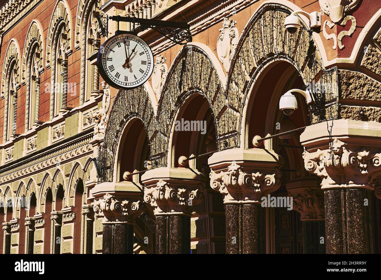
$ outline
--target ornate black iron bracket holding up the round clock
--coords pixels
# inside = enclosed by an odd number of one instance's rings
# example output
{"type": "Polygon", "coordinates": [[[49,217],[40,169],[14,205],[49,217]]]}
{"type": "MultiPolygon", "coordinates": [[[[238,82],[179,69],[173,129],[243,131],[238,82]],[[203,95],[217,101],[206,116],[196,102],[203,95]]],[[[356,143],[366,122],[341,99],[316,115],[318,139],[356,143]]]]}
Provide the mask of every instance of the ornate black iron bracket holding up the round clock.
{"type": "Polygon", "coordinates": [[[135,24],[138,24],[138,31],[144,31],[149,28],[154,29],[176,44],[185,45],[186,43],[182,43],[183,41],[192,42],[190,26],[186,22],[159,21],[155,19],[130,18],[127,16],[110,16],[107,18],[104,14],[98,14],[96,18],[101,28],[102,37],[107,37],[108,20],[111,19],[118,22],[118,30],[115,34],[126,33],[126,31],[119,30],[119,22],[132,22],[133,30],[131,33],[133,34],[137,33],[135,24]]]}

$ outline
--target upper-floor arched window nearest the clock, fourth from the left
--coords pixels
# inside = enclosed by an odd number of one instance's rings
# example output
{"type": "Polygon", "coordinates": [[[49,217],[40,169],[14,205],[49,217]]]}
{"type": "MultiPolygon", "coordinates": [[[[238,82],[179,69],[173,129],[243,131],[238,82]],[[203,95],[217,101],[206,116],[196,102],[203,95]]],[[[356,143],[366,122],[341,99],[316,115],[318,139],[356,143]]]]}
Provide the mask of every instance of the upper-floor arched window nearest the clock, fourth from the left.
{"type": "Polygon", "coordinates": [[[99,2],[93,1],[92,4],[88,6],[88,18],[83,22],[83,44],[86,44],[85,56],[82,58],[86,63],[86,80],[85,80],[85,96],[84,101],[90,100],[90,96],[98,96],[99,90],[99,72],[96,66],[91,65],[89,58],[91,54],[97,52],[101,45],[100,41],[100,30],[99,24],[96,21],[95,13],[99,12],[99,2]]]}

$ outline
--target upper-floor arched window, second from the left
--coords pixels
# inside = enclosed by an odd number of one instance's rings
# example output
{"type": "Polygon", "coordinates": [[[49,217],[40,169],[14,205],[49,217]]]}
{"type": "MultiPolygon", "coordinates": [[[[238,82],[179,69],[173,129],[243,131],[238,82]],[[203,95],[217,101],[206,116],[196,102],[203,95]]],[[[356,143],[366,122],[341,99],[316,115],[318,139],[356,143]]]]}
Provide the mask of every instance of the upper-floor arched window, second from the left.
{"type": "Polygon", "coordinates": [[[28,59],[27,91],[29,91],[28,128],[38,126],[40,123],[40,49],[36,43],[32,47],[28,59]]]}

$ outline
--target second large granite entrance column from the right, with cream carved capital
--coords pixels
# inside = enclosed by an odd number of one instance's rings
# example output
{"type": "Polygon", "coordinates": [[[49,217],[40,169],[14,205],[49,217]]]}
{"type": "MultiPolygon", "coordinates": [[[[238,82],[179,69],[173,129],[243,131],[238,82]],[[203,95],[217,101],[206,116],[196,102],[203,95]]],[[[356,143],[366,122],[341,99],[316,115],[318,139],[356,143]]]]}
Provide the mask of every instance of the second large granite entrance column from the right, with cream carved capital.
{"type": "Polygon", "coordinates": [[[210,186],[224,195],[227,254],[266,253],[261,198],[279,188],[280,163],[274,151],[262,149],[225,150],[209,158],[210,186]]]}

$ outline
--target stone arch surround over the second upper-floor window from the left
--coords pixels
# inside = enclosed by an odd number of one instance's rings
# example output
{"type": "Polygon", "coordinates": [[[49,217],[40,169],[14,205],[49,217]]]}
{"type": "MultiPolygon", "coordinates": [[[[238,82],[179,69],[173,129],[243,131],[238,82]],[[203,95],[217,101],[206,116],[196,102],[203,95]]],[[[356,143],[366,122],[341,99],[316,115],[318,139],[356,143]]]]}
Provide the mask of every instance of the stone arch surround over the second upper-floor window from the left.
{"type": "Polygon", "coordinates": [[[23,85],[25,85],[26,83],[27,59],[35,44],[38,44],[38,48],[40,49],[40,54],[41,54],[41,57],[39,59],[40,61],[39,71],[40,72],[43,71],[43,55],[44,55],[43,41],[44,41],[44,38],[43,38],[41,24],[40,22],[37,22],[34,19],[29,26],[26,39],[25,39],[24,49],[22,52],[21,81],[23,85]]]}

